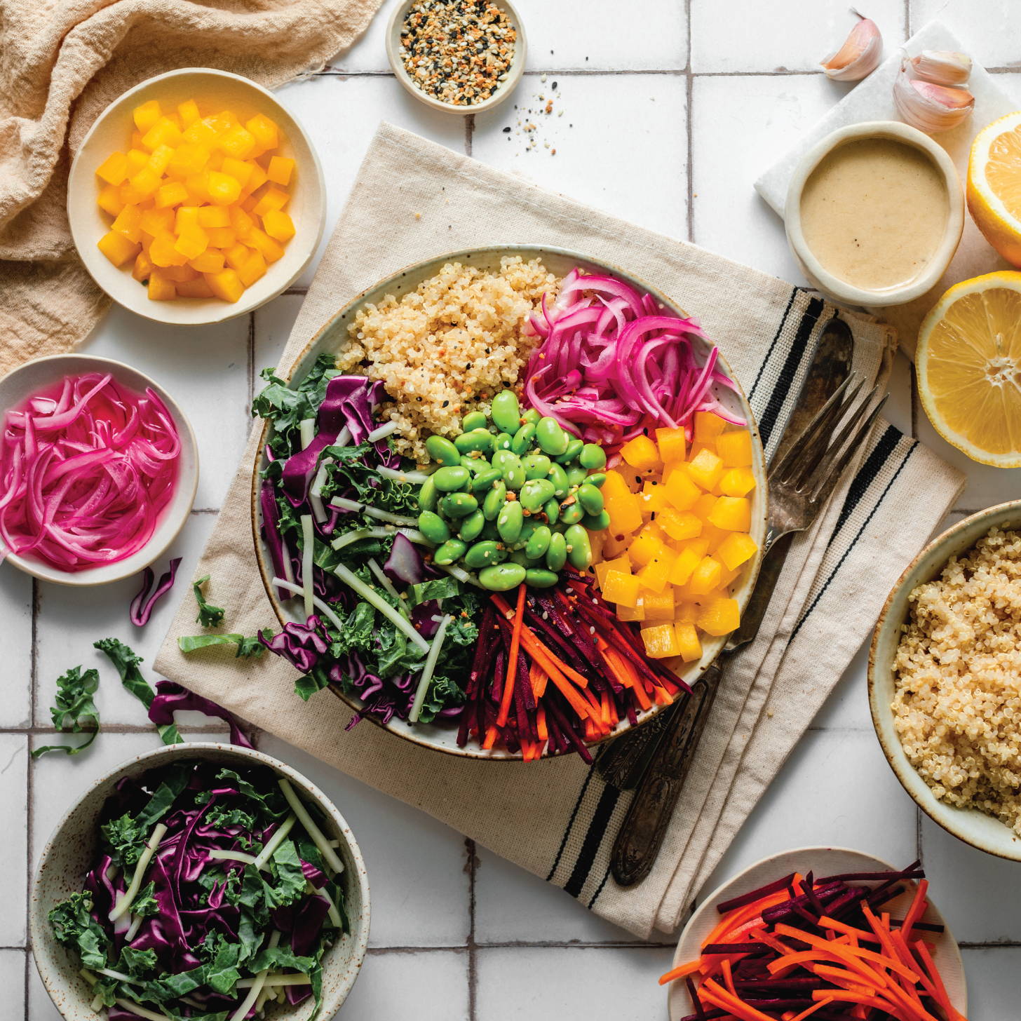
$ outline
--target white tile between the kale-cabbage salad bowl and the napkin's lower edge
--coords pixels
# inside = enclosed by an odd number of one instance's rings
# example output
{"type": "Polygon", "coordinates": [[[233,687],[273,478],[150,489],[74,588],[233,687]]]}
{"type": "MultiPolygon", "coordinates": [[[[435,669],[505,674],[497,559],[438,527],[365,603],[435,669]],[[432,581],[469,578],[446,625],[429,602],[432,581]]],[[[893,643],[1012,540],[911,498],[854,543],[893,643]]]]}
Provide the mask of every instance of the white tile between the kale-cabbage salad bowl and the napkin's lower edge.
{"type": "Polygon", "coordinates": [[[319,784],[350,825],[369,870],[373,946],[467,941],[469,884],[459,833],[272,734],[260,735],[258,746],[319,784]]]}

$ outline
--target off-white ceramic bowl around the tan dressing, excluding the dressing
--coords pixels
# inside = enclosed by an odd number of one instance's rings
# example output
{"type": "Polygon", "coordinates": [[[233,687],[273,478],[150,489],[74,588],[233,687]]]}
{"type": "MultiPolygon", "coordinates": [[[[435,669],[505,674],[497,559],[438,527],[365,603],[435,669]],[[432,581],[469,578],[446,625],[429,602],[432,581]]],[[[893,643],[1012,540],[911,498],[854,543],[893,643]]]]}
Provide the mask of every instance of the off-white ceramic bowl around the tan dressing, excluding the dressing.
{"type": "Polygon", "coordinates": [[[866,120],[832,132],[800,158],[787,187],[783,216],[787,240],[794,255],[809,275],[815,278],[822,290],[852,305],[904,304],[921,297],[934,287],[950,265],[964,231],[964,191],[957,168],[946,150],[933,142],[928,135],[900,120],[866,120]],[[915,280],[886,290],[856,287],[833,276],[820,263],[805,240],[805,233],[801,230],[801,193],[812,173],[834,149],[864,138],[890,138],[920,149],[942,176],[946,186],[946,227],[935,254],[925,271],[915,280]]]}

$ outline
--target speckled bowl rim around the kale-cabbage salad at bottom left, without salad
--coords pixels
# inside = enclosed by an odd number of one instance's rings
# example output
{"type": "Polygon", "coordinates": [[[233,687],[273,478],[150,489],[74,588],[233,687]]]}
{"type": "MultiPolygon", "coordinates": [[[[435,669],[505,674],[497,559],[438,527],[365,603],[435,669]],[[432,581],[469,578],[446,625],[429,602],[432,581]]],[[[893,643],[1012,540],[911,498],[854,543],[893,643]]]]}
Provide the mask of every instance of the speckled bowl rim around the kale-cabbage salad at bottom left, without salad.
{"type": "MultiPolygon", "coordinates": [[[[135,756],[132,759],[120,763],[119,765],[113,767],[113,769],[104,773],[101,777],[99,777],[99,779],[91,784],[88,790],[78,797],[75,800],[75,804],[71,805],[70,808],[68,808],[64,813],[63,818],[54,827],[50,838],[46,841],[46,846],[43,848],[42,855],[39,857],[39,864],[36,867],[35,877],[32,882],[31,905],[29,911],[29,938],[31,940],[31,945],[42,946],[45,943],[53,943],[53,935],[49,930],[49,924],[46,918],[47,908],[44,907],[47,905],[45,897],[45,887],[47,882],[46,869],[51,858],[54,844],[63,836],[64,829],[72,825],[75,816],[81,810],[83,803],[91,797],[99,787],[108,785],[112,790],[113,783],[121,776],[137,775],[143,770],[153,769],[177,759],[202,759],[205,758],[209,751],[218,752],[227,758],[236,757],[243,763],[266,766],[276,773],[285,776],[292,783],[297,784],[297,786],[305,794],[307,794],[320,809],[322,809],[324,814],[329,817],[336,830],[336,837],[346,844],[346,849],[354,863],[354,869],[348,869],[345,871],[354,873],[350,882],[354,883],[358,888],[358,892],[361,897],[361,913],[356,920],[351,919],[351,932],[348,934],[352,942],[351,955],[349,960],[343,963],[343,967],[346,969],[346,974],[338,983],[337,988],[332,992],[326,987],[327,983],[324,982],[323,1009],[320,1012],[320,1018],[332,1018],[347,999],[348,993],[351,991],[351,987],[354,985],[355,979],[358,977],[361,969],[361,963],[364,960],[366,952],[369,947],[370,895],[369,874],[366,870],[366,863],[361,857],[361,850],[358,847],[358,843],[354,839],[354,834],[351,832],[351,828],[347,825],[347,821],[340,814],[340,811],[333,804],[333,801],[331,801],[330,798],[327,797],[326,794],[324,794],[323,791],[311,782],[311,780],[303,776],[292,766],[288,766],[287,763],[281,762],[279,759],[275,759],[273,756],[268,756],[264,751],[258,751],[255,748],[244,748],[237,744],[227,744],[221,741],[185,741],[181,744],[168,744],[162,747],[153,748],[151,751],[144,751],[141,755],[135,756]]],[[[43,980],[43,985],[46,987],[46,991],[53,1001],[54,1007],[56,1007],[62,1017],[66,1018],[67,1014],[61,1006],[61,998],[65,995],[74,995],[75,993],[70,989],[68,983],[59,974],[58,969],[51,969],[46,962],[40,959],[39,955],[34,953],[32,956],[36,962],[39,977],[43,980]]],[[[327,959],[326,967],[330,967],[329,959],[327,959]]],[[[278,1012],[274,1014],[273,1017],[279,1018],[280,1021],[286,1021],[289,1017],[289,1013],[278,1012]]]]}

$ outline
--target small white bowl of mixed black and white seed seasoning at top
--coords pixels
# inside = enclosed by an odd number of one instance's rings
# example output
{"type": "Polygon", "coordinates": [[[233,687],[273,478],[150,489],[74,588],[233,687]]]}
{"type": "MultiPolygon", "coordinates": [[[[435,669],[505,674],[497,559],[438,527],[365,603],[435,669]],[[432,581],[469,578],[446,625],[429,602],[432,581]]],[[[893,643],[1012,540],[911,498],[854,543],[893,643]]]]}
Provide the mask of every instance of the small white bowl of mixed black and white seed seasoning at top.
{"type": "Polygon", "coordinates": [[[416,99],[467,114],[510,95],[525,70],[527,43],[507,0],[404,0],[390,16],[386,52],[416,99]]]}

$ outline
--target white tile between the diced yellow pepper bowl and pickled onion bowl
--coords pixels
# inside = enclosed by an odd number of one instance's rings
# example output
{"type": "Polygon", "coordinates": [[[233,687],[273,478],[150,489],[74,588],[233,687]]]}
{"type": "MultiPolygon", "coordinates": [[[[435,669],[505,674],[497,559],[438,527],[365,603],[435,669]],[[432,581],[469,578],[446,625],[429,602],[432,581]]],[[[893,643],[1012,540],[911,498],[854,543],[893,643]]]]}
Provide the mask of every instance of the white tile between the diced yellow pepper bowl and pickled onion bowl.
{"type": "Polygon", "coordinates": [[[114,305],[83,348],[151,376],[181,405],[198,440],[196,507],[218,507],[248,435],[248,317],[187,329],[114,305]]]}

